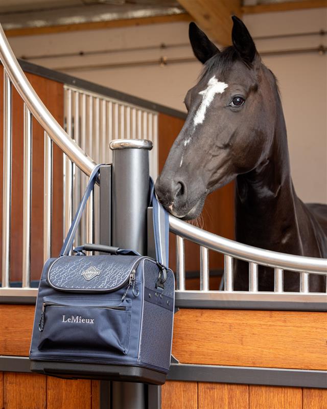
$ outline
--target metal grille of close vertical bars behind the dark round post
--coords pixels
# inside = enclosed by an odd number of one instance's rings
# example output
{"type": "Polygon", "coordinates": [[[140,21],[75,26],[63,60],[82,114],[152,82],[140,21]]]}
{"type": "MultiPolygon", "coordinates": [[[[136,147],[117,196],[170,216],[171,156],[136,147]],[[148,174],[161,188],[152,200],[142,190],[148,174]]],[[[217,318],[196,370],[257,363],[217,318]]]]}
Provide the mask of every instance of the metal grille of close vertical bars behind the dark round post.
{"type": "MultiPolygon", "coordinates": [[[[158,174],[158,114],[119,100],[64,85],[65,130],[96,163],[111,163],[109,143],[114,139],[147,139],[150,175],[158,174]]],[[[68,159],[64,160],[64,234],[85,191],[87,176],[68,159]]],[[[99,242],[99,191],[91,197],[76,235],[75,245],[99,242]],[[87,223],[87,220],[90,220],[87,223]]]]}

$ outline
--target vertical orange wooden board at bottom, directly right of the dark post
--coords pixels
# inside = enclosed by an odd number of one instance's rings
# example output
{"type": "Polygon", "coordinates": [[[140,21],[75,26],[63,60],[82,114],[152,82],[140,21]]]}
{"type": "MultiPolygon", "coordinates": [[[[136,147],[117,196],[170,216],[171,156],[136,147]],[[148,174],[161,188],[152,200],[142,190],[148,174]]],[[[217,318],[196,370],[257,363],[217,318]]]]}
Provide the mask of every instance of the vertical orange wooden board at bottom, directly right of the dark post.
{"type": "Polygon", "coordinates": [[[161,409],[198,409],[197,382],[166,382],[161,387],[161,409]]]}

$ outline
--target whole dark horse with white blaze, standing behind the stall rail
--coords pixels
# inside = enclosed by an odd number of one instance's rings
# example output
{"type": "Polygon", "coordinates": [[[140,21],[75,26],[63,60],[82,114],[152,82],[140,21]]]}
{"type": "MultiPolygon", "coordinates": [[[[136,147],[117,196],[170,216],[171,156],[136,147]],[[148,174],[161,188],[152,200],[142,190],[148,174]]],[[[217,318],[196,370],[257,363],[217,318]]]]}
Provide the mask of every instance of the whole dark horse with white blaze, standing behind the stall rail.
{"type": "MultiPolygon", "coordinates": [[[[236,178],[237,241],[327,258],[327,206],[296,196],[276,78],[243,22],[232,19],[233,46],[223,51],[190,24],[203,72],[186,94],[188,117],[157,179],[157,195],[171,214],[189,220],[209,193],[236,178]]],[[[311,275],[310,291],[324,288],[324,277],[311,275]]],[[[236,264],[235,289],[248,289],[244,262],[236,264]]],[[[271,268],[259,269],[259,289],[273,290],[271,268]]],[[[285,274],[284,289],[299,290],[297,273],[285,274]]]]}

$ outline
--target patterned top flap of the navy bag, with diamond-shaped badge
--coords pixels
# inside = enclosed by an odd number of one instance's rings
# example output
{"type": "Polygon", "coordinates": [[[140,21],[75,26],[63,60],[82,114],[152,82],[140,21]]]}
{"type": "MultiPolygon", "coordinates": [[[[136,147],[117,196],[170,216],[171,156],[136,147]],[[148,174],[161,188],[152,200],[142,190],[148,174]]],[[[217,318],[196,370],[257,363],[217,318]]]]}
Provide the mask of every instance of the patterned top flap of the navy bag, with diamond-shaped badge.
{"type": "Polygon", "coordinates": [[[49,284],[61,291],[110,292],[128,284],[142,256],[63,256],[48,272],[49,284]]]}

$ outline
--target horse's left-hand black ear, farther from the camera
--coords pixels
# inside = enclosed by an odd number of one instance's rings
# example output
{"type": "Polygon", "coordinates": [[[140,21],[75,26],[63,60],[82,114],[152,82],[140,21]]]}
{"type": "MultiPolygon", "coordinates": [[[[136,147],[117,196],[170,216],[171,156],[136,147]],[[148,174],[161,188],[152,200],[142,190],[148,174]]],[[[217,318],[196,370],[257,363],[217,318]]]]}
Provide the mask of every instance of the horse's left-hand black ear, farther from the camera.
{"type": "Polygon", "coordinates": [[[215,44],[199,29],[195,22],[190,22],[189,37],[194,55],[202,64],[220,52],[215,44]]]}

